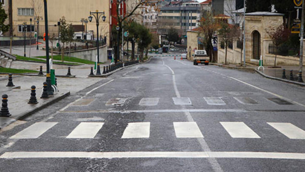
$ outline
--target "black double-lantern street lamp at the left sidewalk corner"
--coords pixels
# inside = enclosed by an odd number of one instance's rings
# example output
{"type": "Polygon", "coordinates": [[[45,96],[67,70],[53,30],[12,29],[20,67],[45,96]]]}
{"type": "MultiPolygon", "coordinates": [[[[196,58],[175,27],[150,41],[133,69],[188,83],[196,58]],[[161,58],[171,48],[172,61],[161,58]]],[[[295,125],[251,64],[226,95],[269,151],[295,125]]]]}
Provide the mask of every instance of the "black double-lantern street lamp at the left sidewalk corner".
{"type": "Polygon", "coordinates": [[[96,74],[95,75],[101,75],[101,69],[99,68],[99,19],[102,16],[103,22],[106,20],[105,12],[91,12],[90,11],[90,16],[88,17],[89,21],[92,21],[92,16],[94,16],[96,20],[96,46],[97,46],[97,66],[96,66],[96,74]]]}

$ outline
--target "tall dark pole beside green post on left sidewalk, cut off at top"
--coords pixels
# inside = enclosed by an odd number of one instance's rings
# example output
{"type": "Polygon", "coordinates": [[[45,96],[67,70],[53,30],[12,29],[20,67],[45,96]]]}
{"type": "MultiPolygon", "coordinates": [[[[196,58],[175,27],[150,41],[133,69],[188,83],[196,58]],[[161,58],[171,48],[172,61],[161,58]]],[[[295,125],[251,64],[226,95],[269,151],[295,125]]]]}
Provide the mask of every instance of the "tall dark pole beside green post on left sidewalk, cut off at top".
{"type": "Polygon", "coordinates": [[[48,8],[47,0],[43,0],[45,7],[45,53],[46,53],[46,63],[47,63],[47,93],[53,95],[51,88],[51,74],[50,74],[50,64],[49,64],[49,30],[48,30],[48,8]]]}

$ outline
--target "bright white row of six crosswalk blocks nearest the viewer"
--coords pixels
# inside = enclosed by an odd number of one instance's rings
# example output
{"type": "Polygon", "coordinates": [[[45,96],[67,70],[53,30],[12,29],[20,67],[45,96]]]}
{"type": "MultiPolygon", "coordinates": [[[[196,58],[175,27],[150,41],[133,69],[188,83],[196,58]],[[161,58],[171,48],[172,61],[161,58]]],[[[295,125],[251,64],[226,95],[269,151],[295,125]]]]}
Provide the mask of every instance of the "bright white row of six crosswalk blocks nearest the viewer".
{"type": "MultiPolygon", "coordinates": [[[[37,139],[42,135],[48,133],[47,131],[52,128],[56,130],[54,122],[38,122],[31,126],[28,126],[24,130],[10,137],[11,139],[37,139]]],[[[270,132],[271,129],[278,131],[279,135],[283,135],[288,139],[305,139],[305,131],[292,123],[269,123],[270,128],[260,130],[261,136],[266,135],[266,131],[270,132]]],[[[81,122],[79,123],[66,139],[94,139],[99,132],[104,132],[102,129],[104,123],[102,122],[81,122]]],[[[267,125],[267,126],[268,126],[267,125]]],[[[203,138],[203,126],[198,125],[196,122],[173,122],[171,132],[176,138],[203,138]]],[[[261,136],[257,134],[251,127],[246,125],[244,122],[229,122],[223,121],[219,124],[215,124],[214,128],[222,127],[224,130],[217,130],[217,132],[224,132],[224,135],[228,134],[231,138],[244,138],[244,139],[260,139],[261,136]]],[[[166,128],[166,127],[164,127],[166,128]]],[[[132,139],[132,138],[149,138],[151,131],[150,122],[135,122],[128,123],[122,133],[121,139],[132,139]]],[[[160,131],[158,131],[160,132],[160,131]]],[[[168,133],[168,129],[166,131],[168,133]]],[[[209,133],[209,132],[208,132],[209,133]]],[[[214,133],[219,134],[221,133],[214,133]]],[[[47,134],[46,134],[47,135],[47,134]]],[[[274,135],[274,133],[272,134],[274,135]]],[[[52,137],[54,134],[52,134],[52,137]]],[[[62,137],[62,136],[59,136],[62,137]]],[[[205,136],[209,137],[209,136],[205,136]]],[[[278,135],[276,136],[278,137],[278,135]]]]}

